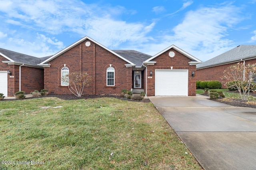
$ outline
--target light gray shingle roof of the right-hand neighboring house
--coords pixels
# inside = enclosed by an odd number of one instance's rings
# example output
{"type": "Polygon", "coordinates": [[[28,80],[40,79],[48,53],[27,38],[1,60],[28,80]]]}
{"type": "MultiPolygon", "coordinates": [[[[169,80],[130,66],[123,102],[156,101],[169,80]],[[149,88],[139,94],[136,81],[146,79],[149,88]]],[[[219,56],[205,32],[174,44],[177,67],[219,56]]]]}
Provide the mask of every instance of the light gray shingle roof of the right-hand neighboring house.
{"type": "Polygon", "coordinates": [[[217,57],[214,57],[202,64],[196,66],[197,69],[206,68],[236,61],[256,58],[256,45],[240,45],[230,51],[227,51],[217,57]]]}

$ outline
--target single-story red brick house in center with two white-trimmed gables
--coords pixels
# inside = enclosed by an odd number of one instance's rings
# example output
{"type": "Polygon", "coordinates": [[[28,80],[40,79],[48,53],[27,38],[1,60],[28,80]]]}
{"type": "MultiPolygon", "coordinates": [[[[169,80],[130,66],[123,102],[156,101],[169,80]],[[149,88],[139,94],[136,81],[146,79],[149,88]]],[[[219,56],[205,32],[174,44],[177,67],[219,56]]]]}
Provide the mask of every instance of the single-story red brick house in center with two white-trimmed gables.
{"type": "Polygon", "coordinates": [[[134,50],[110,50],[86,36],[43,61],[41,58],[37,66],[44,70],[43,88],[50,94],[72,94],[62,76],[87,72],[92,82],[83,94],[120,94],[122,89],[132,89],[147,96],[195,96],[199,63],[175,45],[150,56],[134,50]]]}

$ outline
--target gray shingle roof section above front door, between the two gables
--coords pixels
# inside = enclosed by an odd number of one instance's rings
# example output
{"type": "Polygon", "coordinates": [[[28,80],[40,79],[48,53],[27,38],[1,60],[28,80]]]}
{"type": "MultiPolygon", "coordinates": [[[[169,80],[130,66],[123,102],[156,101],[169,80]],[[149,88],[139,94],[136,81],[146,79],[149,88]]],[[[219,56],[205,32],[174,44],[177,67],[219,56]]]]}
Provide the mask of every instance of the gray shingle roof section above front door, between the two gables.
{"type": "Polygon", "coordinates": [[[134,50],[112,50],[118,55],[124,57],[125,59],[131,61],[132,63],[136,64],[136,67],[141,67],[143,61],[150,59],[151,55],[147,55],[144,53],[140,53],[134,50]]]}

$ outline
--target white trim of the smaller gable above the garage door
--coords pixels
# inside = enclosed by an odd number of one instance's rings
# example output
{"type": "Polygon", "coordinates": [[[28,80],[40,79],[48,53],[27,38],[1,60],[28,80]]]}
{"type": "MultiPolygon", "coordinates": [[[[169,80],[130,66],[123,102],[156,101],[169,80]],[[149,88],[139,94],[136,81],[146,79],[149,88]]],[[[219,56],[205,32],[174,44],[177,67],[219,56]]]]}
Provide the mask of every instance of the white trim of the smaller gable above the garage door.
{"type": "Polygon", "coordinates": [[[189,53],[187,53],[186,51],[183,51],[182,49],[176,47],[175,45],[171,45],[170,47],[164,49],[163,51],[161,51],[160,53],[157,53],[156,55],[154,55],[153,57],[151,57],[150,59],[147,59],[146,61],[144,61],[145,63],[146,62],[149,62],[151,60],[153,60],[154,58],[158,57],[159,55],[161,55],[162,53],[170,50],[170,49],[175,49],[176,51],[182,53],[183,55],[185,55],[186,57],[188,57],[189,59],[191,59],[191,62],[190,65],[195,65],[195,64],[199,64],[199,63],[202,63],[202,61],[200,61],[199,59],[197,59],[196,57],[190,55],[189,53]]]}

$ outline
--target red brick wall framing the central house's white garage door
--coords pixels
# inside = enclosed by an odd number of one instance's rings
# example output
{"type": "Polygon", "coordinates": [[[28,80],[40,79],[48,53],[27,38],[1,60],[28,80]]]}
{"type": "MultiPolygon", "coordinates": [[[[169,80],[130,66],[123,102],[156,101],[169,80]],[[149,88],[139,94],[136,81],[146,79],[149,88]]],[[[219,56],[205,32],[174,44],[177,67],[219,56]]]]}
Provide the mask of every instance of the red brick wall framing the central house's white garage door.
{"type": "Polygon", "coordinates": [[[183,54],[179,53],[174,49],[170,49],[155,59],[156,64],[148,65],[147,74],[150,75],[150,71],[153,72],[152,78],[148,78],[148,89],[147,89],[147,96],[154,96],[155,95],[155,75],[154,72],[157,69],[171,69],[173,70],[180,70],[185,69],[188,70],[188,96],[195,96],[196,95],[196,74],[194,77],[190,76],[192,71],[196,72],[196,66],[190,66],[188,62],[191,61],[188,57],[184,56],[183,54]],[[169,52],[174,51],[175,57],[169,57],[169,52]]]}

